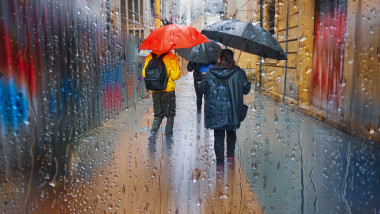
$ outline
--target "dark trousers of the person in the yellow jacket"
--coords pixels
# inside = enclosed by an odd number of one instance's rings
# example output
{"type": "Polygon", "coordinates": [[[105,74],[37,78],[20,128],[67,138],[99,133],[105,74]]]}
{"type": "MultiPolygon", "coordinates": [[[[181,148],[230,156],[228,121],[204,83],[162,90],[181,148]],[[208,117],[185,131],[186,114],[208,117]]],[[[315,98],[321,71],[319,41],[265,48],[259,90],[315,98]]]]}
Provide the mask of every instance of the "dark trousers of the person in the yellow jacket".
{"type": "Polygon", "coordinates": [[[174,116],[176,109],[176,100],[174,91],[152,92],[154,120],[151,129],[152,134],[156,134],[160,128],[164,117],[167,118],[165,134],[173,134],[174,116]]]}

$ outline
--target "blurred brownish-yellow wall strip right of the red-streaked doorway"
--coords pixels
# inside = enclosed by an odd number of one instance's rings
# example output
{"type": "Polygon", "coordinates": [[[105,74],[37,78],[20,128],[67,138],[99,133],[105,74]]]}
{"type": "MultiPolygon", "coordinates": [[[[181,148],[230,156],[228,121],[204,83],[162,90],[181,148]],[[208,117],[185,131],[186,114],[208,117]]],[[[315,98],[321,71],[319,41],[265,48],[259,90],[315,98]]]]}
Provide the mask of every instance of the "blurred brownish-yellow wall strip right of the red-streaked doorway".
{"type": "Polygon", "coordinates": [[[348,1],[343,122],[380,141],[380,0],[348,1]]]}

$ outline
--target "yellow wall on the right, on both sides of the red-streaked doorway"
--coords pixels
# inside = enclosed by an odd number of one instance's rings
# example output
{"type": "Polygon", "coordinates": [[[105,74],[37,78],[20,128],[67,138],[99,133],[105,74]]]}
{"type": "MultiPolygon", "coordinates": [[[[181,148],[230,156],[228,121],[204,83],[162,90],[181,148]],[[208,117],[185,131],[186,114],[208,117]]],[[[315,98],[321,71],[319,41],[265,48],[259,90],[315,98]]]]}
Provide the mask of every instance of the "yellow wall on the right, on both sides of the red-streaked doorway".
{"type": "MultiPolygon", "coordinates": [[[[275,37],[286,49],[286,7],[289,2],[288,70],[286,100],[347,132],[380,141],[380,0],[348,1],[345,41],[343,89],[338,109],[317,109],[310,106],[313,69],[315,1],[276,0],[275,37]],[[331,117],[333,115],[333,117],[331,117]]],[[[268,1],[264,1],[264,5],[268,1]]],[[[268,8],[264,7],[264,28],[269,26],[268,8]]],[[[257,5],[257,21],[260,6],[257,5]]],[[[286,61],[265,59],[262,83],[265,92],[281,99],[284,92],[286,61]]],[[[258,57],[243,54],[240,65],[256,65],[258,57]]]]}

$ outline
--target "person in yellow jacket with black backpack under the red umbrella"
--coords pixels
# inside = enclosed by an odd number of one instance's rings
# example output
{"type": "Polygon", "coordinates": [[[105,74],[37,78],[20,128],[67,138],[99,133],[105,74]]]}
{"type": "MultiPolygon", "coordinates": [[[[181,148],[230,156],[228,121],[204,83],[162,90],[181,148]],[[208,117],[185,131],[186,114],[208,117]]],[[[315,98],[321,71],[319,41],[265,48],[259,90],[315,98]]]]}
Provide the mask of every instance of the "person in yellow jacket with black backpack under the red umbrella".
{"type": "Polygon", "coordinates": [[[181,76],[177,56],[171,52],[152,52],[145,59],[142,75],[147,89],[152,90],[154,120],[150,130],[150,139],[154,140],[156,138],[158,129],[165,117],[167,118],[165,135],[171,137],[173,136],[174,116],[176,113],[174,80],[178,80],[181,76]],[[157,77],[160,72],[163,73],[163,76],[157,77]],[[165,82],[159,83],[162,88],[155,90],[157,88],[155,86],[157,85],[157,78],[161,80],[163,77],[165,82]]]}

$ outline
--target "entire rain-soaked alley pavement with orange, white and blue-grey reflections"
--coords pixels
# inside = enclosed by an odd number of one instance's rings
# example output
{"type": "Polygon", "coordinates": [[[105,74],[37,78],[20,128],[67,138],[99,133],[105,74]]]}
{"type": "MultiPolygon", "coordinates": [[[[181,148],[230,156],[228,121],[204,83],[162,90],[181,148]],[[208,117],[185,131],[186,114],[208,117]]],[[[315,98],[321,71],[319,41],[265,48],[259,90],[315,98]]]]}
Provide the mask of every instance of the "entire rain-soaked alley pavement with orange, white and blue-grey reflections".
{"type": "Polygon", "coordinates": [[[160,129],[148,141],[152,102],[142,100],[70,144],[64,175],[36,168],[25,190],[2,186],[12,194],[0,196],[1,212],[380,213],[378,143],[251,91],[237,158],[217,171],[192,75],[176,83],[172,139],[160,129]]]}

